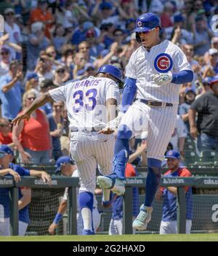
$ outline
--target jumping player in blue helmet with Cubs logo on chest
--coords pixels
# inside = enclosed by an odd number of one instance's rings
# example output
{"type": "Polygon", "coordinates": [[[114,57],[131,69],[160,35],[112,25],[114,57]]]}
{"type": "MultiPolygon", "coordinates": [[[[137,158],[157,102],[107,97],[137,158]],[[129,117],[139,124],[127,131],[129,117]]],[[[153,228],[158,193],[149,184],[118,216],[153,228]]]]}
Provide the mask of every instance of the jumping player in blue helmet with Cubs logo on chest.
{"type": "Polygon", "coordinates": [[[145,230],[150,221],[153,199],[161,179],[161,161],[177,120],[179,85],[193,79],[193,71],[185,54],[177,45],[168,40],[162,41],[160,30],[160,20],[153,13],[145,13],[136,20],[134,31],[141,46],[132,53],[126,66],[122,109],[118,118],[100,131],[113,133],[121,120],[113,174],[97,177],[100,187],[121,194],[125,191],[124,171],[129,155],[129,139],[148,130],[148,177],[145,203],[133,222],[133,228],[137,230],[145,230]]]}

